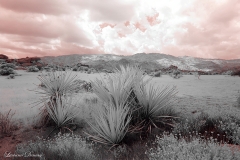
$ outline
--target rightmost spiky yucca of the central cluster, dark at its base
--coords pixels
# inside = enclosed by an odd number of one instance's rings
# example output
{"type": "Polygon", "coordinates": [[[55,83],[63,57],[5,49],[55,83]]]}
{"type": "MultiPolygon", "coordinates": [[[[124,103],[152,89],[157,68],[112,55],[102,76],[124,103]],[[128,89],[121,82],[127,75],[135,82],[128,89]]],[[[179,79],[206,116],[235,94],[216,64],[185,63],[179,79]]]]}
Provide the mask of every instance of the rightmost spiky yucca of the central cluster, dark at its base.
{"type": "Polygon", "coordinates": [[[173,125],[169,123],[169,119],[177,118],[171,115],[173,114],[171,107],[176,93],[175,86],[161,89],[152,84],[149,86],[140,83],[136,85],[135,94],[141,105],[139,119],[148,126],[148,129],[151,129],[151,126],[158,127],[159,123],[173,125]]]}

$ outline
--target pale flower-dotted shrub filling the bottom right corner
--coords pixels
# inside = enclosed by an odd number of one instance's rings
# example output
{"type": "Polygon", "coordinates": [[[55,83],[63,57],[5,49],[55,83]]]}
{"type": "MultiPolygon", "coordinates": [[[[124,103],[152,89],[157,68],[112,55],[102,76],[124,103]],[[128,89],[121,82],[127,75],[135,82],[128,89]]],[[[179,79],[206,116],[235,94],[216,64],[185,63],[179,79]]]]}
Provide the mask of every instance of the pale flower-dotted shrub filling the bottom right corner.
{"type": "Polygon", "coordinates": [[[196,138],[191,142],[186,142],[170,134],[162,138],[157,137],[155,144],[156,148],[151,148],[146,152],[150,160],[237,160],[240,157],[239,150],[227,145],[219,145],[214,139],[204,141],[196,138]]]}

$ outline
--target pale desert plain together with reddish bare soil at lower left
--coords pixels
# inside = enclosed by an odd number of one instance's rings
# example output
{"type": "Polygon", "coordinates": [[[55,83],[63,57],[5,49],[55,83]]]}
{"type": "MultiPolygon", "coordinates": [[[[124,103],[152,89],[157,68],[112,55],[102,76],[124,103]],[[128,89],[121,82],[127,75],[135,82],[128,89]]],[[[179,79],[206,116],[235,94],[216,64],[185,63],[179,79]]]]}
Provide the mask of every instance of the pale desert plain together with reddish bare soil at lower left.
{"type": "MultiPolygon", "coordinates": [[[[34,102],[40,99],[40,95],[35,92],[38,90],[40,81],[38,76],[47,74],[47,72],[26,72],[17,71],[21,76],[16,76],[15,79],[7,79],[0,76],[0,111],[7,112],[11,109],[15,112],[13,119],[16,122],[21,122],[21,130],[15,134],[15,137],[6,137],[1,139],[1,156],[6,150],[14,151],[14,146],[18,143],[31,139],[33,134],[38,131],[25,129],[37,119],[40,106],[35,106],[34,102]],[[21,135],[25,133],[25,136],[21,135]],[[9,147],[4,147],[5,145],[9,147]]],[[[72,75],[77,75],[77,79],[94,81],[95,78],[104,78],[105,73],[86,74],[80,72],[72,72],[72,75]]],[[[239,109],[236,105],[237,97],[240,90],[240,78],[225,76],[225,75],[202,75],[198,77],[194,75],[183,75],[180,79],[174,79],[169,75],[154,77],[152,82],[156,86],[176,86],[177,101],[174,106],[181,114],[195,114],[207,112],[210,115],[218,115],[221,113],[239,114],[239,109]]],[[[79,107],[85,107],[86,99],[95,97],[94,93],[77,93],[74,98],[79,103],[79,107]]],[[[89,112],[83,109],[82,116],[88,116],[89,112]]],[[[39,134],[41,135],[41,134],[39,134]]],[[[0,156],[0,157],[1,157],[0,156]]]]}

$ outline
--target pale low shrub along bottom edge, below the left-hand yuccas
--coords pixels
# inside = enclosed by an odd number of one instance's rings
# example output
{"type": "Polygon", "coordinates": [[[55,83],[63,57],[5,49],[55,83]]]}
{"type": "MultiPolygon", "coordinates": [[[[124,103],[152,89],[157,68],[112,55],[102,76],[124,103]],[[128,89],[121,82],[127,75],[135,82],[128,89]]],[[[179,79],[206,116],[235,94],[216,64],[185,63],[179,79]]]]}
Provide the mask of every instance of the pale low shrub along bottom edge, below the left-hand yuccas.
{"type": "Polygon", "coordinates": [[[16,154],[31,153],[41,155],[46,160],[71,159],[71,160],[94,160],[92,144],[86,139],[69,134],[58,134],[53,139],[38,138],[16,146],[16,154]]]}

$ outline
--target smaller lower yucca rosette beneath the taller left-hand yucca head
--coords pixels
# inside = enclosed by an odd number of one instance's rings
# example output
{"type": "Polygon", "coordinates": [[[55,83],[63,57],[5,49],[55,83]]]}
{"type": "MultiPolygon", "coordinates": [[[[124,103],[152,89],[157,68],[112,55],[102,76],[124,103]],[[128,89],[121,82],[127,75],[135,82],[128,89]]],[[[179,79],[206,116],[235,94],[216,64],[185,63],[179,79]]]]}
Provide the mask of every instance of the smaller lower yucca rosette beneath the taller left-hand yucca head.
{"type": "Polygon", "coordinates": [[[48,115],[56,123],[57,128],[70,124],[79,114],[79,110],[72,104],[72,99],[56,95],[55,100],[45,103],[48,115]]]}

